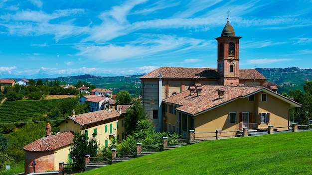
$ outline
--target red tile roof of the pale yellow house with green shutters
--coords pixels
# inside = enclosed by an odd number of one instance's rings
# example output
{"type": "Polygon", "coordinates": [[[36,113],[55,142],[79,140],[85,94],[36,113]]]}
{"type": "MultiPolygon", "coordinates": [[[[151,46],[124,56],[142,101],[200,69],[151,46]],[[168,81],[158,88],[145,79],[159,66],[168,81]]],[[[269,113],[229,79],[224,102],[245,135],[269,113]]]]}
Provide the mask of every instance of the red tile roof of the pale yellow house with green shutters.
{"type": "Polygon", "coordinates": [[[96,123],[103,120],[108,120],[112,118],[117,118],[120,116],[120,113],[117,112],[116,109],[111,109],[111,111],[107,110],[98,110],[95,112],[88,112],[76,115],[75,118],[69,116],[71,120],[77,122],[79,125],[83,126],[86,124],[96,123]]]}

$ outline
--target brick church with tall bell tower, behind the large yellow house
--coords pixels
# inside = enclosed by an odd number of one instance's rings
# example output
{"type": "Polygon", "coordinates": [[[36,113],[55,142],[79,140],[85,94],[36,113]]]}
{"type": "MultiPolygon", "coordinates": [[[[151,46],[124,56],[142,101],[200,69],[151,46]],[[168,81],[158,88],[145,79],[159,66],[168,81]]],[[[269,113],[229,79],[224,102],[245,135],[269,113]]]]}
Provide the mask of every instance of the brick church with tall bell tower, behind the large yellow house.
{"type": "MultiPolygon", "coordinates": [[[[160,67],[142,77],[142,103],[157,131],[163,131],[162,100],[201,85],[265,87],[267,80],[255,69],[239,69],[239,39],[225,24],[217,40],[217,68],[160,67]]],[[[270,90],[277,92],[277,87],[270,90]]]]}

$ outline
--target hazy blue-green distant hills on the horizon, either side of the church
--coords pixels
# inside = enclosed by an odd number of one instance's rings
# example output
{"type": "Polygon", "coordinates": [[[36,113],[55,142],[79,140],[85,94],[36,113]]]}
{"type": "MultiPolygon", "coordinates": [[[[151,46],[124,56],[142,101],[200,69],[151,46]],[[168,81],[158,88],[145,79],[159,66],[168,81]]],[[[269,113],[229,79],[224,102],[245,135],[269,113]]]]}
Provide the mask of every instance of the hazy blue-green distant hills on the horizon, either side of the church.
{"type": "MultiPolygon", "coordinates": [[[[279,86],[279,93],[288,92],[289,89],[304,91],[305,81],[312,81],[312,69],[292,68],[256,68],[268,81],[279,86]]],[[[99,88],[111,89],[115,94],[120,90],[127,90],[131,94],[141,93],[141,80],[143,75],[101,77],[95,75],[79,75],[71,77],[58,77],[53,79],[41,79],[43,82],[58,80],[61,85],[77,84],[78,81],[87,82],[99,88]]],[[[36,79],[37,80],[37,79],[36,79]]]]}

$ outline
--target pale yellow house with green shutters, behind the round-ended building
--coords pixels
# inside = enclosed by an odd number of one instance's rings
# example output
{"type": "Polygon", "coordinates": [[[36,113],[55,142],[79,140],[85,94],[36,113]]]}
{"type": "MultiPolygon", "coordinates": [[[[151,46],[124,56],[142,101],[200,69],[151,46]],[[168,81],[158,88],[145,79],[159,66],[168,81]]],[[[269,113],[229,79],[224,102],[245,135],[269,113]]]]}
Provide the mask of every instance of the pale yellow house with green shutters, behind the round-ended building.
{"type": "Polygon", "coordinates": [[[110,139],[118,142],[124,139],[124,115],[115,109],[105,109],[94,112],[72,115],[59,123],[60,132],[87,132],[88,136],[96,138],[101,146],[109,146],[110,139]]]}

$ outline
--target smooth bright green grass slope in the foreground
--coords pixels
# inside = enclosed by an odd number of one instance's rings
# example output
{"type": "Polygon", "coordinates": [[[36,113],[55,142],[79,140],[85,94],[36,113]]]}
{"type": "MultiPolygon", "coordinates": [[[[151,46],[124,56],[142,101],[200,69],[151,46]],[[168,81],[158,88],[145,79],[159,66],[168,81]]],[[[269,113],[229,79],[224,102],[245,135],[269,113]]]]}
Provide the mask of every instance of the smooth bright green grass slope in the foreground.
{"type": "Polygon", "coordinates": [[[82,175],[311,175],[312,131],[206,141],[82,175]]]}

